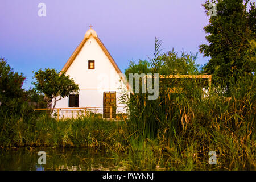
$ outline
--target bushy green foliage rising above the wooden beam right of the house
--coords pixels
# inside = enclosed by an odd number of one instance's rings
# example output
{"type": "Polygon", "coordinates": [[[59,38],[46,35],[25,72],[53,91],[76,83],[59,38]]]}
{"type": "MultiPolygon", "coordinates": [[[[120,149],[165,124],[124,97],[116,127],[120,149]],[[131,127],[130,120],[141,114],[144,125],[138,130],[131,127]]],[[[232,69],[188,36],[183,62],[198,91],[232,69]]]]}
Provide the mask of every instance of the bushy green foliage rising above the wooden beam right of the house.
{"type": "Polygon", "coordinates": [[[135,61],[130,61],[129,67],[125,70],[125,75],[128,77],[129,73],[160,73],[160,75],[196,75],[201,72],[200,64],[196,63],[197,53],[192,52],[179,53],[168,51],[160,53],[162,49],[160,46],[162,41],[155,38],[155,52],[154,58],[147,60],[139,60],[138,64],[135,61]]]}

